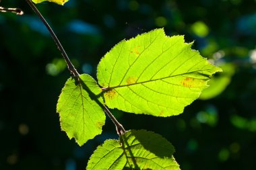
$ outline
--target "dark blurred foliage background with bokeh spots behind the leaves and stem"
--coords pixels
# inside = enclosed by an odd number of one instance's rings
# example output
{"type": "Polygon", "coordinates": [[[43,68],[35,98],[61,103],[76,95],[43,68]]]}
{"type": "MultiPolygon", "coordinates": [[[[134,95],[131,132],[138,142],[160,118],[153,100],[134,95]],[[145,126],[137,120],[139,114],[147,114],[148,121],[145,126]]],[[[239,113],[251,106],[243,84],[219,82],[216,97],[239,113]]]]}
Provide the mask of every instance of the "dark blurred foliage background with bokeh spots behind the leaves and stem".
{"type": "MultiPolygon", "coordinates": [[[[65,62],[26,1],[3,0],[24,15],[0,13],[0,169],[86,169],[96,146],[118,138],[109,119],[79,147],[59,126],[56,103],[70,77],[65,62]]],[[[126,129],[152,130],[176,148],[183,170],[255,169],[256,1],[70,0],[36,5],[77,67],[96,78],[100,58],[124,38],[164,28],[223,73],[179,116],[113,110],[126,129]]]]}

